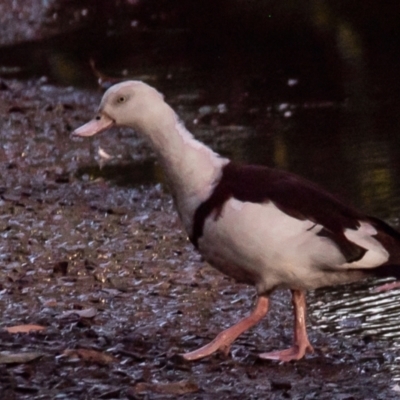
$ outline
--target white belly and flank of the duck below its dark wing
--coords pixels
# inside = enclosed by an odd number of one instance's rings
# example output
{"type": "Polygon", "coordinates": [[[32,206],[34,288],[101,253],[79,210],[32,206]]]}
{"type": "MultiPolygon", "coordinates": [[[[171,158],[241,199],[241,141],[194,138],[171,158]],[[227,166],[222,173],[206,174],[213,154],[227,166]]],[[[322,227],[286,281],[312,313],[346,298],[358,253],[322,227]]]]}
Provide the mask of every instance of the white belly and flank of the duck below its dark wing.
{"type": "Polygon", "coordinates": [[[346,281],[345,273],[348,281],[354,280],[360,273],[347,271],[336,245],[316,235],[321,229],[312,221],[290,217],[272,202],[230,199],[217,219],[213,214],[206,219],[198,243],[211,265],[254,284],[258,292],[340,283],[346,281]]]}

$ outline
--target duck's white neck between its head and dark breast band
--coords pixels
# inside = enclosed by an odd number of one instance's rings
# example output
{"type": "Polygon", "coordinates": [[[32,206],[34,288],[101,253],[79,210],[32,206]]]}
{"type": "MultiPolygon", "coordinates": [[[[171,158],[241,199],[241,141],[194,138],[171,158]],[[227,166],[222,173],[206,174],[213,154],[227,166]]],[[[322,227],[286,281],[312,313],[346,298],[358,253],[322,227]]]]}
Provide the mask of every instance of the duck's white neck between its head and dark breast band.
{"type": "Polygon", "coordinates": [[[164,102],[136,121],[134,128],[149,138],[190,234],[196,208],[210,196],[229,160],[197,141],[164,102]]]}

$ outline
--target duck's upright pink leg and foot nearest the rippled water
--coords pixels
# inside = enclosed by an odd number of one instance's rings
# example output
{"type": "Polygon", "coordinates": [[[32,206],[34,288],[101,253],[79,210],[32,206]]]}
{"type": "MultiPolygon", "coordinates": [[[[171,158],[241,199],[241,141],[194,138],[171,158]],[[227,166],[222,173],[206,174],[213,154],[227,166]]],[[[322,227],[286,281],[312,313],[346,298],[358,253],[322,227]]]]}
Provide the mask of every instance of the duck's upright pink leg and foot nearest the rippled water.
{"type": "Polygon", "coordinates": [[[292,361],[300,360],[306,353],[314,352],[307,337],[306,330],[306,298],[304,292],[292,290],[292,303],[294,307],[294,343],[286,350],[272,351],[259,354],[265,360],[292,361]]]}

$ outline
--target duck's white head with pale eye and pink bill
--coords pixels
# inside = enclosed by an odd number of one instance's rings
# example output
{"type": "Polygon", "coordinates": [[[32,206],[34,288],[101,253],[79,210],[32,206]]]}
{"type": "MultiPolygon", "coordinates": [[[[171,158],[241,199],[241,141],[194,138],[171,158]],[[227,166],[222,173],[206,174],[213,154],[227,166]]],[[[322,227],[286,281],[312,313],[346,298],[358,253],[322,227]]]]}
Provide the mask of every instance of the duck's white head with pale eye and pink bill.
{"type": "Polygon", "coordinates": [[[92,136],[113,125],[137,128],[145,115],[163,105],[163,96],[151,86],[140,81],[121,82],[104,93],[96,116],[73,135],[92,136]]]}

